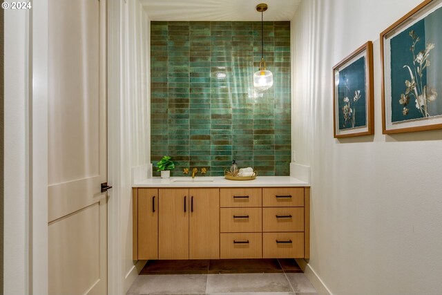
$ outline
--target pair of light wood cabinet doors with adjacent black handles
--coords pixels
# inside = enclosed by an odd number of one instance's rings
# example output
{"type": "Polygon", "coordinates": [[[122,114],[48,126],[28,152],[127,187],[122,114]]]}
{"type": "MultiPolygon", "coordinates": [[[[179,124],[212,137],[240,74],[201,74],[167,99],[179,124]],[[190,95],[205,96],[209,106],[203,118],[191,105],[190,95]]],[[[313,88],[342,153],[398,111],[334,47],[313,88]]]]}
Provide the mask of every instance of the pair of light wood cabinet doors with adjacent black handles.
{"type": "Polygon", "coordinates": [[[219,189],[159,189],[159,259],[218,259],[219,189]]]}

